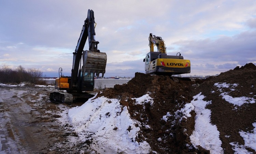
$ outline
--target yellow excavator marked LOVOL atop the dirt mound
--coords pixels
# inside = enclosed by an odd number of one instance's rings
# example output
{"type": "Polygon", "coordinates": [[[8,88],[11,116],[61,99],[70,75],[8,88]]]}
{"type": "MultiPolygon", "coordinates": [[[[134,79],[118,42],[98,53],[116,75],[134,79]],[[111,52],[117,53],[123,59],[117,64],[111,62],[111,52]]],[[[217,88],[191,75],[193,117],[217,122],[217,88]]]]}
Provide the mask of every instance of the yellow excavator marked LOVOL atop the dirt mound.
{"type": "Polygon", "coordinates": [[[186,60],[178,52],[176,55],[167,55],[163,39],[152,35],[148,37],[150,52],[143,59],[146,74],[177,75],[190,73],[190,60],[186,60]],[[157,51],[154,51],[154,46],[157,51]]]}

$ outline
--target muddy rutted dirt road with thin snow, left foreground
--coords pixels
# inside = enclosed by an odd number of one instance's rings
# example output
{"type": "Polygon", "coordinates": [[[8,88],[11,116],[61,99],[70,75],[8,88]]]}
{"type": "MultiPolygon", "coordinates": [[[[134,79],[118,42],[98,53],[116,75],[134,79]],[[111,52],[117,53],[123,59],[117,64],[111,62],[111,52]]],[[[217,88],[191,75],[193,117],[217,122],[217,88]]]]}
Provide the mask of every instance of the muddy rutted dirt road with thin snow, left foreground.
{"type": "Polygon", "coordinates": [[[70,130],[57,120],[67,107],[48,101],[49,87],[0,87],[0,152],[47,153],[70,130]]]}

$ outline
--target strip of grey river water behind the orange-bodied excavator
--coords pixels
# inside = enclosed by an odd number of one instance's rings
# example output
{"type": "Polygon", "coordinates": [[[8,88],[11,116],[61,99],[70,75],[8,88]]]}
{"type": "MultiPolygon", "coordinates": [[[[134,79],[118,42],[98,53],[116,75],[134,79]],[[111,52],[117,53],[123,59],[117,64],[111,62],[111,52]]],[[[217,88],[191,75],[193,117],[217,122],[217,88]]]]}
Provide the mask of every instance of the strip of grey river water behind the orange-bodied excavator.
{"type": "MultiPolygon", "coordinates": [[[[95,88],[100,89],[100,88],[114,88],[114,85],[119,84],[126,84],[129,82],[131,79],[96,79],[95,81],[95,88]]],[[[54,84],[55,79],[48,79],[46,80],[47,84],[54,84]]]]}

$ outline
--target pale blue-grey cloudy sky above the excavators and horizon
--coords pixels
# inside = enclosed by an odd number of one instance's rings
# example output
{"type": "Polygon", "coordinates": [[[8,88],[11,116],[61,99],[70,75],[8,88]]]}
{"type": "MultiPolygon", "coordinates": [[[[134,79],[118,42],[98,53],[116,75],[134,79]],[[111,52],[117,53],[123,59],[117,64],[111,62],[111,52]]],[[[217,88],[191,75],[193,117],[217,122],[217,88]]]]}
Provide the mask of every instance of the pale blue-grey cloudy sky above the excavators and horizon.
{"type": "MultiPolygon", "coordinates": [[[[1,0],[0,66],[70,75],[88,9],[97,23],[104,76],[144,72],[148,36],[161,36],[167,53],[191,61],[191,73],[215,75],[256,65],[255,0],[1,0]]],[[[84,50],[88,50],[88,42],[84,50]]]]}

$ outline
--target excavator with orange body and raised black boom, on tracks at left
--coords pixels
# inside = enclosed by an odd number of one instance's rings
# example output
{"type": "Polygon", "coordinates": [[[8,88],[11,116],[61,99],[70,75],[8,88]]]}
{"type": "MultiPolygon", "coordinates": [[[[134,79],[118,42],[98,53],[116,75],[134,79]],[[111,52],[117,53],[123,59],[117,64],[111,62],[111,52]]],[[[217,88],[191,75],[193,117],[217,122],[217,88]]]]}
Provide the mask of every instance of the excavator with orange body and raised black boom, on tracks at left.
{"type": "Polygon", "coordinates": [[[71,104],[94,96],[86,91],[94,90],[95,75],[99,76],[101,73],[102,77],[104,76],[107,60],[106,53],[98,50],[99,41],[95,40],[95,26],[94,11],[89,9],[73,52],[71,76],[63,76],[62,68],[59,68],[59,78],[55,80],[55,89],[58,92],[50,93],[51,102],[71,104]],[[84,51],[87,38],[89,50],[84,51]]]}

